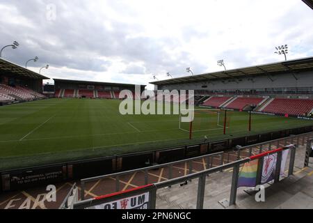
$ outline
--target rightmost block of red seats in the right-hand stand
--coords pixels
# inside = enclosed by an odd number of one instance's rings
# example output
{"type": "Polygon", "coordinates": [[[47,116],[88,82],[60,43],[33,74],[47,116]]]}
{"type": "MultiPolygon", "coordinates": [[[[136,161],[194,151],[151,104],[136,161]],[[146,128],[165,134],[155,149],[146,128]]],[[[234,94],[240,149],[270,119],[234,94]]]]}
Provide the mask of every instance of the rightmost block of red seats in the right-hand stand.
{"type": "Polygon", "coordinates": [[[262,112],[275,114],[305,115],[313,109],[313,100],[276,98],[262,112]]]}

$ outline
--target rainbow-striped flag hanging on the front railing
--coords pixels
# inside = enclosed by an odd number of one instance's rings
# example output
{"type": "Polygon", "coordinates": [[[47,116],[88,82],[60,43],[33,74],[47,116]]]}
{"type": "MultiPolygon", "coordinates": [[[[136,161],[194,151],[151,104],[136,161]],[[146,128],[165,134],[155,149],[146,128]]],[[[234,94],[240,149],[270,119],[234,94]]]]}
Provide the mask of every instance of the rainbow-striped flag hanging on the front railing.
{"type": "Polygon", "coordinates": [[[252,160],[243,165],[238,180],[238,187],[255,187],[257,180],[257,165],[259,160],[252,160]]]}

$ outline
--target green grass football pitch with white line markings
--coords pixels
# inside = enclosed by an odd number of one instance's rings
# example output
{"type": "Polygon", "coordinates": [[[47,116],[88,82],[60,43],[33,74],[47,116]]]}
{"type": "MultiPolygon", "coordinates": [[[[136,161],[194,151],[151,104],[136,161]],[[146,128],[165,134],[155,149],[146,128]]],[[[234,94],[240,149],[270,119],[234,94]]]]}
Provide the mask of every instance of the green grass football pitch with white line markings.
{"type": "Polygon", "coordinates": [[[312,125],[312,121],[229,112],[196,112],[193,139],[179,115],[125,115],[120,100],[49,99],[0,107],[0,169],[148,151],[312,125]],[[220,116],[220,117],[218,117],[220,116]],[[218,120],[219,119],[219,120],[218,120]]]}

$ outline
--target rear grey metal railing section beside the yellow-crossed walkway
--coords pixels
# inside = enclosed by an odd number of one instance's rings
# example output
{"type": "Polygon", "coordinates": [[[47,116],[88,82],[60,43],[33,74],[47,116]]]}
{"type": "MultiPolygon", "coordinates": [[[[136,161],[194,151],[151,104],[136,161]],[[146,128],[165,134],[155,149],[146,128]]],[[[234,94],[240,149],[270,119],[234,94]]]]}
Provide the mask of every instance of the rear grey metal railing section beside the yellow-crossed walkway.
{"type": "Polygon", "coordinates": [[[214,157],[220,157],[220,164],[223,164],[223,153],[224,152],[219,152],[219,153],[211,153],[211,154],[207,154],[207,155],[202,155],[199,157],[193,157],[193,158],[189,158],[186,160],[178,160],[175,162],[168,162],[165,164],[159,164],[159,165],[154,165],[151,167],[144,167],[141,169],[132,169],[129,171],[123,171],[123,172],[118,172],[115,174],[106,174],[103,176],[95,176],[92,178],[85,178],[85,179],[81,179],[81,200],[85,199],[85,184],[88,182],[92,182],[95,180],[102,180],[104,178],[115,178],[116,184],[115,184],[115,192],[119,192],[120,191],[120,176],[125,176],[127,174],[134,174],[136,172],[143,172],[145,173],[145,185],[148,184],[148,180],[149,180],[149,174],[148,171],[153,170],[153,169],[160,169],[160,168],[164,168],[164,167],[168,167],[169,168],[169,179],[172,179],[172,168],[174,165],[176,164],[181,164],[181,163],[188,163],[188,170],[189,173],[192,173],[193,171],[193,161],[194,160],[200,160],[200,159],[205,159],[206,163],[207,163],[207,169],[209,169],[210,167],[212,167],[213,164],[213,159],[214,157]],[[211,160],[211,162],[210,162],[211,160]]]}

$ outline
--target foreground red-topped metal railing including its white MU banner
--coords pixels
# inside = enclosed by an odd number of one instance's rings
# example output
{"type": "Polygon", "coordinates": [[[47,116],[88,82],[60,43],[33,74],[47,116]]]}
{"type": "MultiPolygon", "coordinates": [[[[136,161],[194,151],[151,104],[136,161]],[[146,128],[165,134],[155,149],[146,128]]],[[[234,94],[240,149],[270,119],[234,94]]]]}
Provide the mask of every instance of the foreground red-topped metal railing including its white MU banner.
{"type": "MultiPolygon", "coordinates": [[[[202,209],[204,204],[204,189],[206,185],[206,178],[210,174],[214,174],[218,171],[223,171],[225,169],[232,168],[232,187],[230,191],[230,201],[229,205],[234,205],[236,203],[236,192],[239,186],[239,169],[241,164],[245,164],[252,160],[258,160],[257,177],[255,179],[255,184],[262,184],[262,171],[264,166],[264,157],[269,154],[277,154],[277,160],[275,162],[275,171],[273,172],[274,183],[280,180],[280,167],[282,164],[282,152],[284,150],[291,150],[291,157],[289,161],[289,175],[293,173],[294,170],[294,158],[296,153],[296,146],[290,145],[284,148],[278,148],[273,151],[268,151],[259,155],[248,157],[242,160],[236,160],[234,162],[220,165],[219,167],[214,167],[198,173],[189,174],[187,176],[182,176],[179,178],[174,178],[166,180],[161,183],[155,183],[151,185],[145,185],[143,187],[138,187],[133,190],[118,192],[115,194],[109,194],[102,197],[97,197],[93,199],[88,199],[85,201],[79,201],[74,203],[74,209],[81,208],[97,208],[97,209],[128,209],[128,208],[156,208],[157,201],[157,190],[163,187],[170,187],[172,185],[177,185],[186,180],[198,179],[198,195],[196,208],[202,209]]],[[[265,182],[267,183],[267,182],[265,182]]]]}

